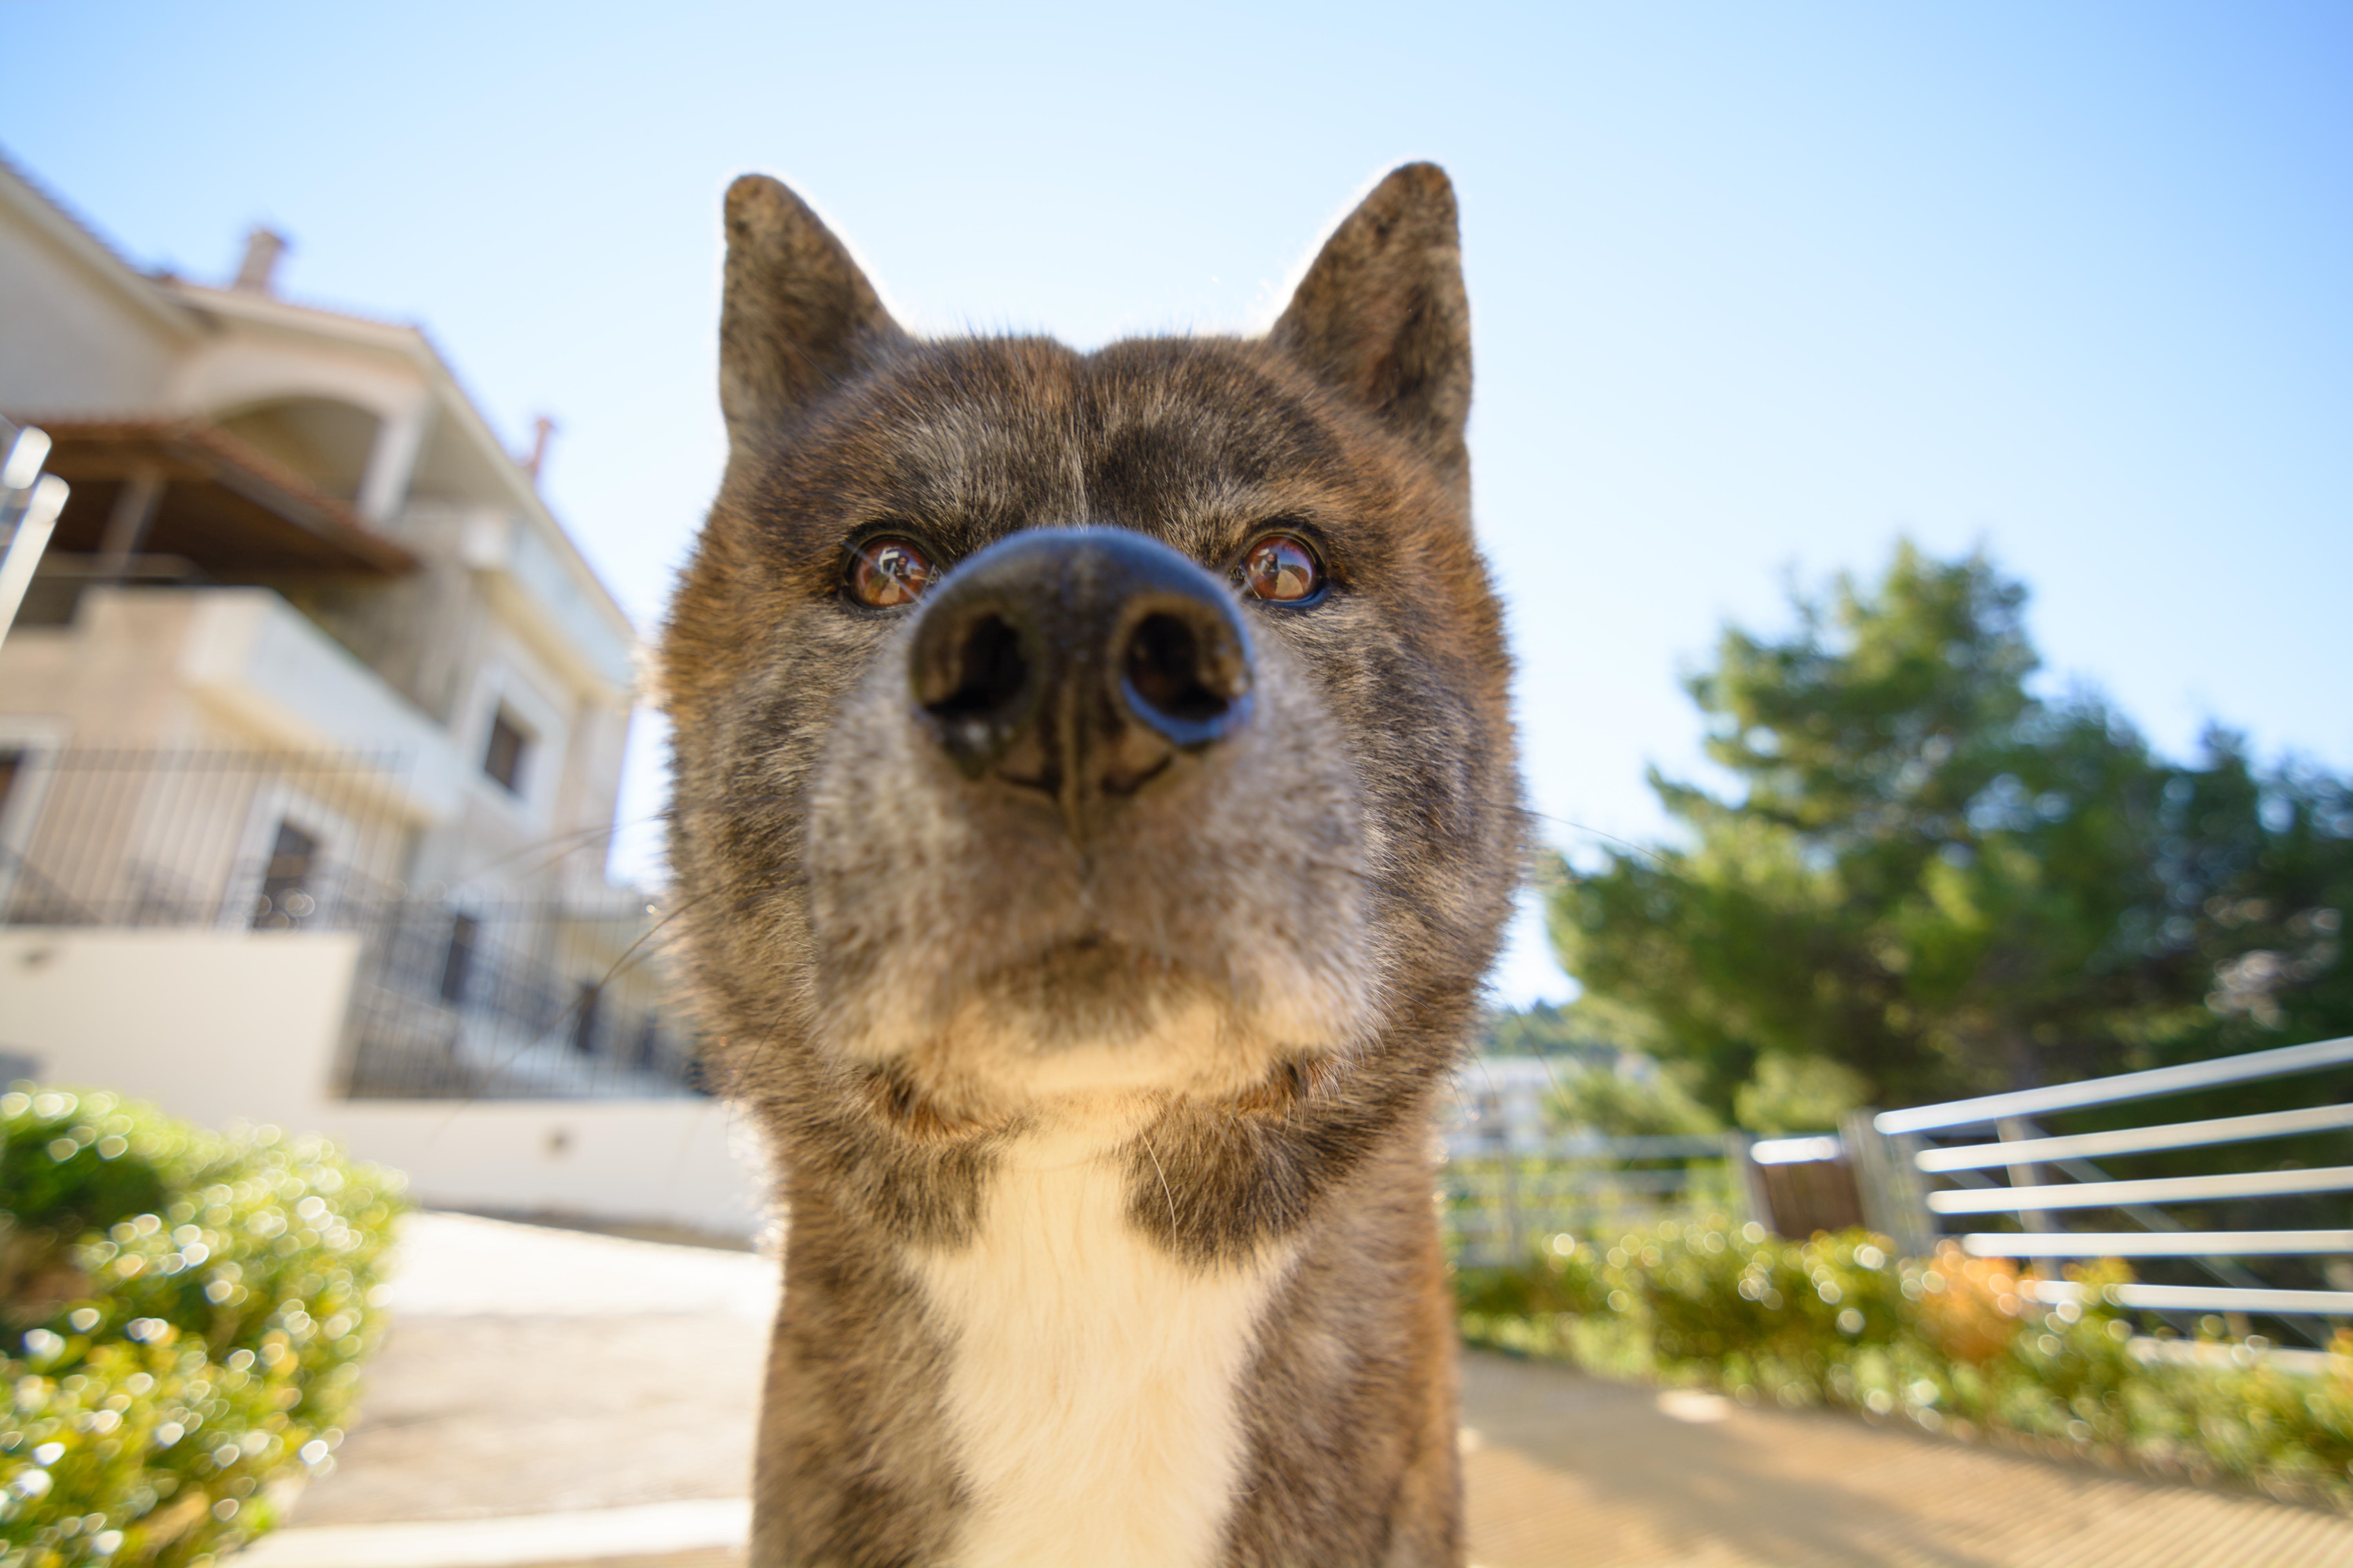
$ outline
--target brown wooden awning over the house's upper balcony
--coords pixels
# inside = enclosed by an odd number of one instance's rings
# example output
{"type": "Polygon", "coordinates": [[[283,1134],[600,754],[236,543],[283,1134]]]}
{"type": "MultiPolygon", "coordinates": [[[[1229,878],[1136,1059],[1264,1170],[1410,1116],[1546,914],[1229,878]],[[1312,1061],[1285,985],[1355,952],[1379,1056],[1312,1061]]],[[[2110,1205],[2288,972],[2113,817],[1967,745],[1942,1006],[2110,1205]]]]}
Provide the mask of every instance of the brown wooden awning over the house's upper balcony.
{"type": "Polygon", "coordinates": [[[214,581],[398,576],[416,557],[376,534],[348,501],[200,418],[38,421],[49,473],[73,487],[52,552],[96,555],[132,484],[158,484],[134,545],[176,555],[214,581]]]}

